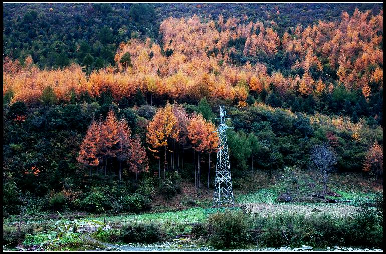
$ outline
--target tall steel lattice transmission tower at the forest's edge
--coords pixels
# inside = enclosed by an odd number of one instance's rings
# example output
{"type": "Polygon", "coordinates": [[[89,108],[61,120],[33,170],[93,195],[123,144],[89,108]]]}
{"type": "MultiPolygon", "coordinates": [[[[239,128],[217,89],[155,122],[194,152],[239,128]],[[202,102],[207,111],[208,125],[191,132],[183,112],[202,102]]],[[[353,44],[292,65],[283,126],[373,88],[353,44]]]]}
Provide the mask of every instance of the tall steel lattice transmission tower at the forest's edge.
{"type": "Polygon", "coordinates": [[[220,106],[220,125],[217,128],[219,143],[217,148],[217,164],[215,178],[215,193],[213,195],[213,205],[220,207],[223,203],[234,205],[231,168],[229,166],[228,143],[226,129],[232,128],[225,124],[227,118],[224,105],[220,106]]]}

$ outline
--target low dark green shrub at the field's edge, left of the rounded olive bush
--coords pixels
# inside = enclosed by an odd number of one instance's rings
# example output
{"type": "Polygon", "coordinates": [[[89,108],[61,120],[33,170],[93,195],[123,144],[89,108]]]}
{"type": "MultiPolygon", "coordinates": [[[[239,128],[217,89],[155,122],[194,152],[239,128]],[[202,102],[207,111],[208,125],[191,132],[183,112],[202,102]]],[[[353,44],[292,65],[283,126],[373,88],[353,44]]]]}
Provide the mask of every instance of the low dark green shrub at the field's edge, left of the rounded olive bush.
{"type": "Polygon", "coordinates": [[[122,231],[124,242],[154,243],[161,241],[165,236],[161,225],[157,223],[127,225],[122,228],[122,231]]]}

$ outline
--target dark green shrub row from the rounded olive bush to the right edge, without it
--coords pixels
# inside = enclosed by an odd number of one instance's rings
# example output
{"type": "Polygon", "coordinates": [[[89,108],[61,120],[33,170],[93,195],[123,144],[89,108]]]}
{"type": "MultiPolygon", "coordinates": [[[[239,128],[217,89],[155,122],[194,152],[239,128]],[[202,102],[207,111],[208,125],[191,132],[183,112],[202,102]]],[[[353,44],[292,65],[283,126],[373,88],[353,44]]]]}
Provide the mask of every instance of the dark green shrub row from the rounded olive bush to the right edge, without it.
{"type": "Polygon", "coordinates": [[[381,216],[375,209],[359,208],[354,217],[336,218],[320,213],[310,217],[303,214],[276,214],[273,217],[255,217],[254,228],[265,231],[255,235],[260,246],[291,247],[310,245],[351,245],[359,247],[382,246],[381,216]]]}

